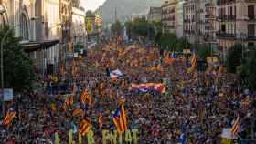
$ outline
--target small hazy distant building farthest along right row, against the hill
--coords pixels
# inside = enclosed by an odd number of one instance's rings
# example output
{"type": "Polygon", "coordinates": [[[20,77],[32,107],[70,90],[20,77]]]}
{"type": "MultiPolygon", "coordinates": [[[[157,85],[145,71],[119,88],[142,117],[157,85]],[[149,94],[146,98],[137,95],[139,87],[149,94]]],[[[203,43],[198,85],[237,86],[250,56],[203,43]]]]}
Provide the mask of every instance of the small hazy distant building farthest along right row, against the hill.
{"type": "Polygon", "coordinates": [[[150,7],[147,15],[147,21],[149,22],[159,22],[162,18],[162,8],[161,7],[150,7]]]}

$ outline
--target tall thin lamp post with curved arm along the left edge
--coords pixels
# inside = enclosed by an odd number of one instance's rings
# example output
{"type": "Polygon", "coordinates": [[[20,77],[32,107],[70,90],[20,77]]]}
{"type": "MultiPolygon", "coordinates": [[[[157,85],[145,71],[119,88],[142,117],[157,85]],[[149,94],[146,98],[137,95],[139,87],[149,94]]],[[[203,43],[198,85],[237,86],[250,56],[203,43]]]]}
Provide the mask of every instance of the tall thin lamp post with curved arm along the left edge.
{"type": "MultiPolygon", "coordinates": [[[[2,14],[5,13],[6,11],[2,11],[2,14]]],[[[33,17],[31,19],[29,19],[28,21],[34,21],[36,20],[36,17],[33,17]]],[[[21,26],[21,24],[13,26],[13,28],[16,28],[17,26],[21,26]]],[[[5,38],[9,35],[9,33],[12,31],[11,27],[8,27],[7,32],[5,33],[5,36],[3,37],[2,41],[1,41],[1,64],[0,64],[0,68],[1,68],[1,93],[2,93],[2,116],[4,117],[5,115],[5,100],[4,100],[4,43],[5,43],[5,38]]]]}

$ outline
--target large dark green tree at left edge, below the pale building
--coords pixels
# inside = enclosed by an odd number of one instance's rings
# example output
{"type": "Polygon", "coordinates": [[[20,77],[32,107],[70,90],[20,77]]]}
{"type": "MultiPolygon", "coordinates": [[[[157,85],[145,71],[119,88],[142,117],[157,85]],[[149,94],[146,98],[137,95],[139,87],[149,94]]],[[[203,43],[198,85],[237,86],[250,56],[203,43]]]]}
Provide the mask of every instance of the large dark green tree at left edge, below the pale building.
{"type": "Polygon", "coordinates": [[[9,26],[0,29],[0,42],[5,37],[3,43],[4,85],[13,88],[15,92],[30,91],[35,78],[32,60],[27,57],[19,44],[20,38],[14,37],[13,29],[8,30],[9,26]]]}

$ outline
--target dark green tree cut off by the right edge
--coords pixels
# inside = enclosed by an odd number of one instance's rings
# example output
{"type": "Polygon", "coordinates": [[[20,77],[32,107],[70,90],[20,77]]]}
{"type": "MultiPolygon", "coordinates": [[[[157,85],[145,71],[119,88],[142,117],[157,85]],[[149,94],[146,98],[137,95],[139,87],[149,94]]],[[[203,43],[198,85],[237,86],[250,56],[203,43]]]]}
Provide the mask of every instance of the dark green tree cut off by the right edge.
{"type": "Polygon", "coordinates": [[[240,68],[242,84],[256,90],[256,47],[251,47],[240,68]]]}

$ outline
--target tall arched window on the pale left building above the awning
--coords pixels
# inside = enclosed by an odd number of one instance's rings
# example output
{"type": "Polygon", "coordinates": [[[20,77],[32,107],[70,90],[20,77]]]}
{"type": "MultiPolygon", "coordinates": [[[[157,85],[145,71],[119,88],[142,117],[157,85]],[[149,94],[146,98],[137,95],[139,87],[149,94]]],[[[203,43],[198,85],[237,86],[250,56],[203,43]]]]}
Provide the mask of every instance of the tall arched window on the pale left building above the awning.
{"type": "Polygon", "coordinates": [[[28,40],[28,22],[25,14],[20,16],[20,34],[22,40],[28,40]]]}

